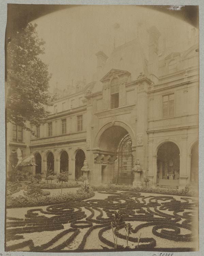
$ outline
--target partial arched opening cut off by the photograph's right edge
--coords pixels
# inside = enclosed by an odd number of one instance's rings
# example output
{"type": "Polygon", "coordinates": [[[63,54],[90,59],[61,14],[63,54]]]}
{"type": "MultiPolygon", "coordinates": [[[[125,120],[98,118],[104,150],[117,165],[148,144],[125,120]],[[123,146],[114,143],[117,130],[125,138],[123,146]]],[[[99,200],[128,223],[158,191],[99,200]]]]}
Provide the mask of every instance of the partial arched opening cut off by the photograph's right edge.
{"type": "Polygon", "coordinates": [[[190,166],[190,182],[191,184],[198,184],[198,142],[196,142],[191,149],[191,166],[190,166]]]}

